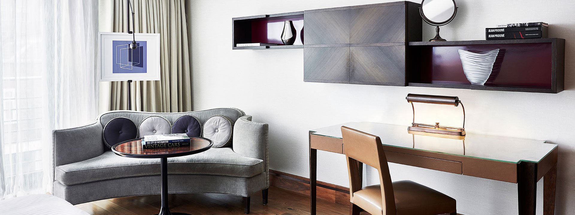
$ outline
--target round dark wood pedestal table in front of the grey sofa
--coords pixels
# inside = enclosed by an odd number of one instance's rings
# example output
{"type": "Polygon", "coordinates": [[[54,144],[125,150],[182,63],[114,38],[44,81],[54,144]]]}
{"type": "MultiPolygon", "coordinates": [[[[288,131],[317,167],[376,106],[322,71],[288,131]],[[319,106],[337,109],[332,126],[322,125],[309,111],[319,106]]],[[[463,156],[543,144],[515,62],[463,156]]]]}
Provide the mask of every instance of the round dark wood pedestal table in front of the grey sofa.
{"type": "Polygon", "coordinates": [[[190,136],[189,146],[168,148],[144,148],[141,139],[133,139],[115,144],[112,151],[128,158],[160,158],[160,175],[162,176],[162,208],[157,215],[190,215],[187,213],[170,213],[168,208],[168,158],[201,153],[212,147],[212,140],[190,136]]]}

